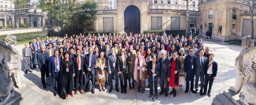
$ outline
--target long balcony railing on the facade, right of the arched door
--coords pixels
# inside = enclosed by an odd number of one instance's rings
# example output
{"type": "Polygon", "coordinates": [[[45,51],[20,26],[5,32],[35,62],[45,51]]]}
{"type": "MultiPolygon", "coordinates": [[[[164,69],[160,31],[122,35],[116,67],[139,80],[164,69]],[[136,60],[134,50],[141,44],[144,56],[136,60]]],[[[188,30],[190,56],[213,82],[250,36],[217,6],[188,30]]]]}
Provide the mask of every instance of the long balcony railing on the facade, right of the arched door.
{"type": "MultiPolygon", "coordinates": [[[[175,13],[175,14],[182,14],[185,15],[186,14],[186,10],[171,10],[171,9],[148,9],[147,10],[148,14],[171,14],[171,13],[175,13]]],[[[199,11],[189,11],[190,15],[200,15],[199,11]]]]}

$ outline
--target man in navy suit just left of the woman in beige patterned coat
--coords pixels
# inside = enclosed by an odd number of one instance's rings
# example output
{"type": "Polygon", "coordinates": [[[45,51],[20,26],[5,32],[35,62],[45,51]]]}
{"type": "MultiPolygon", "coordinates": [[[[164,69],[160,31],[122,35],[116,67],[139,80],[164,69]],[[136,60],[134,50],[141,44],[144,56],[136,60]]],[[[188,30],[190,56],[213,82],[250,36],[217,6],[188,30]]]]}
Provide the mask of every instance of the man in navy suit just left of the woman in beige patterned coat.
{"type": "Polygon", "coordinates": [[[86,73],[86,82],[83,84],[83,90],[84,91],[90,91],[86,90],[86,84],[89,82],[89,79],[92,81],[92,94],[95,93],[95,66],[96,66],[96,59],[97,55],[93,54],[93,48],[89,49],[89,54],[86,55],[84,58],[84,72],[86,73]],[[90,78],[91,77],[91,78],[90,78]]]}

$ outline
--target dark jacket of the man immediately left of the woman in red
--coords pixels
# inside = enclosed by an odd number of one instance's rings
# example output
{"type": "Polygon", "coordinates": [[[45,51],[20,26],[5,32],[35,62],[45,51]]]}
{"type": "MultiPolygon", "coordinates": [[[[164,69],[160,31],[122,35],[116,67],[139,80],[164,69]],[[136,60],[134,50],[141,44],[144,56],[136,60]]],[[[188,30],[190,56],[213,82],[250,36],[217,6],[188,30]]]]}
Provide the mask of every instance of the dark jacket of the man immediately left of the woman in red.
{"type": "Polygon", "coordinates": [[[170,60],[168,58],[165,58],[164,59],[164,62],[163,62],[163,59],[162,57],[159,58],[159,64],[160,64],[160,78],[163,77],[163,78],[170,78],[170,60]]]}

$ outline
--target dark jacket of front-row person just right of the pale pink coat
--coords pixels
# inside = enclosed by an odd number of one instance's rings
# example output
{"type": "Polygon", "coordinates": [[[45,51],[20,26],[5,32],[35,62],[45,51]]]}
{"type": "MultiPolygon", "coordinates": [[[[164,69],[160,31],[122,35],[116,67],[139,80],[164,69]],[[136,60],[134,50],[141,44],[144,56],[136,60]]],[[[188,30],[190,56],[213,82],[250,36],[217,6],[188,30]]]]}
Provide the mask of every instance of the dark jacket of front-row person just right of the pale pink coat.
{"type": "MultiPolygon", "coordinates": [[[[149,61],[148,64],[147,64],[147,71],[148,71],[148,78],[152,78],[152,69],[153,69],[153,61],[149,61]]],[[[156,76],[159,75],[159,71],[160,71],[160,64],[158,61],[156,61],[156,65],[155,65],[155,74],[156,76]]],[[[156,78],[155,78],[156,79],[156,78]]]]}

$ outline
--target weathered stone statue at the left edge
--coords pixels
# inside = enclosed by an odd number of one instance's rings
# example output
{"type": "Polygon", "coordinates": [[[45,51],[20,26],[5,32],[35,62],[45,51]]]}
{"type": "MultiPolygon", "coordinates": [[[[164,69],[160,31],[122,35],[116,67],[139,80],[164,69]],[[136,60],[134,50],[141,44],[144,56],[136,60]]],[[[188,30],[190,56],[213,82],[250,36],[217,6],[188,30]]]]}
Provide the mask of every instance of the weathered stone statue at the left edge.
{"type": "Polygon", "coordinates": [[[22,56],[14,48],[15,45],[16,36],[10,34],[5,38],[5,44],[0,43],[0,104],[14,96],[13,85],[19,89],[26,86],[20,81],[22,56]]]}

